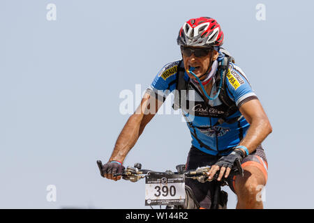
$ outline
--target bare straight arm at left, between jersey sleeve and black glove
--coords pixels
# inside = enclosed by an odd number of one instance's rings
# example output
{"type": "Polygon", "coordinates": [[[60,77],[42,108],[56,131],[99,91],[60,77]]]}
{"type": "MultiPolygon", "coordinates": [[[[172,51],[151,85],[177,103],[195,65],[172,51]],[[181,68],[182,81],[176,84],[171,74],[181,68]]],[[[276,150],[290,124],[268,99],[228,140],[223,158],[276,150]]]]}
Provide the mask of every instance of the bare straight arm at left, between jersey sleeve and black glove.
{"type": "MultiPolygon", "coordinates": [[[[155,116],[161,105],[163,105],[162,101],[152,97],[149,93],[144,94],[140,106],[128,118],[126,125],[124,125],[124,128],[119,134],[109,161],[116,160],[121,163],[124,162],[126,155],[133,148],[145,126],[155,116]]],[[[105,174],[105,177],[112,180],[121,178],[113,177],[112,174],[105,174]]]]}

